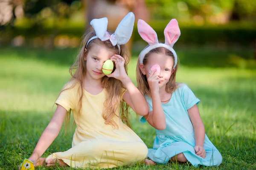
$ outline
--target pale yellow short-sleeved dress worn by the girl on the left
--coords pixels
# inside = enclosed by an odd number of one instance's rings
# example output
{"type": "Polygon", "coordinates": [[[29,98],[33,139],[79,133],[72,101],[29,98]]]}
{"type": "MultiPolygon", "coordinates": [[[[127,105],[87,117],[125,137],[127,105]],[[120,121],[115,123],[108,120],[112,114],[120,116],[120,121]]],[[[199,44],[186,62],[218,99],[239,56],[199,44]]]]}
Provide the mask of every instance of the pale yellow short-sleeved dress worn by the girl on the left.
{"type": "MultiPolygon", "coordinates": [[[[73,86],[65,85],[64,89],[73,86]]],[[[122,165],[131,165],[143,161],[148,149],[144,142],[122,120],[115,116],[113,121],[118,129],[105,125],[102,117],[103,103],[106,99],[104,89],[97,95],[92,95],[84,90],[82,99],[81,116],[77,118],[79,101],[79,85],[62,91],[56,104],[67,111],[70,109],[76,122],[72,147],[65,152],[52,153],[48,159],[61,159],[74,168],[113,168],[122,165]],[[79,119],[79,121],[78,121],[79,119]]],[[[123,94],[122,94],[123,95],[123,94]]],[[[121,95],[121,100],[122,100],[121,95]]],[[[119,111],[116,112],[119,115],[119,111]]]]}

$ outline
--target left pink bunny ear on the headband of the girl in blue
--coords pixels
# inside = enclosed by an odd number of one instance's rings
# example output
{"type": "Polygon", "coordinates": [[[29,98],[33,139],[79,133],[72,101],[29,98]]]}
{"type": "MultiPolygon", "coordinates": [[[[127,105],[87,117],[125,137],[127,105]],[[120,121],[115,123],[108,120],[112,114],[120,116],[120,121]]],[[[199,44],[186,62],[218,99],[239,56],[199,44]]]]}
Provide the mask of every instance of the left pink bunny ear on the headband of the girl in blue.
{"type": "Polygon", "coordinates": [[[148,42],[149,45],[158,43],[156,31],[154,31],[154,29],[151,28],[151,26],[149,26],[145,21],[138,20],[138,32],[140,37],[148,42]]]}

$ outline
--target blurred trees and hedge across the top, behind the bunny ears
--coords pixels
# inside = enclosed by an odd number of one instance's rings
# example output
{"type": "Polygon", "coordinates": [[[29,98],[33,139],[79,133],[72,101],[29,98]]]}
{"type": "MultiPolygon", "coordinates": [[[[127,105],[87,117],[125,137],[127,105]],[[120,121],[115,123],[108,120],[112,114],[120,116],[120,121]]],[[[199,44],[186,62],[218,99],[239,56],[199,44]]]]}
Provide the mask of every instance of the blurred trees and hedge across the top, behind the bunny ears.
{"type": "MultiPolygon", "coordinates": [[[[255,47],[255,0],[5,0],[0,6],[1,46],[76,48],[91,19],[108,17],[114,31],[111,19],[134,11],[160,39],[176,18],[181,29],[176,46],[255,47]]],[[[143,42],[136,23],[133,41],[143,42]]]]}

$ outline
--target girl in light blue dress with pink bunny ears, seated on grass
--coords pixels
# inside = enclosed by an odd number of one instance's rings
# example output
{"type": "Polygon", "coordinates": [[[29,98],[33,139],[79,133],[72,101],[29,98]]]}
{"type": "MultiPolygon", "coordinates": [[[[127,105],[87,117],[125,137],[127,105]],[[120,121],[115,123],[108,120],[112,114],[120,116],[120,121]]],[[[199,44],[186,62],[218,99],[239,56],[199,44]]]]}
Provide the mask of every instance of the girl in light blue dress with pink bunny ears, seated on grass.
{"type": "Polygon", "coordinates": [[[165,43],[158,42],[156,32],[143,20],[137,26],[149,44],[137,63],[138,87],[150,109],[146,116],[140,116],[140,122],[148,122],[157,131],[146,163],[167,164],[172,160],[189,161],[195,167],[220,165],[221,153],[205,134],[197,107],[200,100],[187,85],[176,82],[177,54],[172,47],[180,36],[177,20],[166,26],[165,43]]]}

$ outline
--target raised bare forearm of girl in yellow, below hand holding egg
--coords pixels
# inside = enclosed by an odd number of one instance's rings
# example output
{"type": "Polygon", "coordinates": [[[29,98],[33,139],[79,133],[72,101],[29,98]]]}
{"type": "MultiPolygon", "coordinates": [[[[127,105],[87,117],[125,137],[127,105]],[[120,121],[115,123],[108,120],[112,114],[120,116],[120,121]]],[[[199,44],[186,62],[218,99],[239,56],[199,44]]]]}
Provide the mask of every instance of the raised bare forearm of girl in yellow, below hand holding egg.
{"type": "Polygon", "coordinates": [[[140,93],[138,88],[133,84],[131,79],[127,76],[122,80],[127,91],[123,95],[123,100],[132,108],[132,110],[140,116],[148,114],[149,108],[147,101],[143,94],[140,93]]]}

